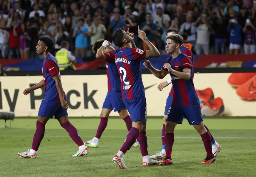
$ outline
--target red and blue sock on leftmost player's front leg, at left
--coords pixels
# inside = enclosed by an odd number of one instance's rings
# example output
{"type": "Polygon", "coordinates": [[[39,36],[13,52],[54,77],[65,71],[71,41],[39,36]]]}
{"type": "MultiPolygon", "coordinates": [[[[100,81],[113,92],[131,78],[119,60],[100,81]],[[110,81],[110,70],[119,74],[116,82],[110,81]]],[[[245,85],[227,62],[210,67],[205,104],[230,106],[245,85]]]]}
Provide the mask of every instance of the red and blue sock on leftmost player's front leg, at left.
{"type": "Polygon", "coordinates": [[[34,133],[33,142],[32,142],[32,148],[33,150],[37,151],[39,148],[39,145],[44,137],[44,130],[45,130],[45,124],[38,121],[36,122],[36,132],[34,133]]]}

